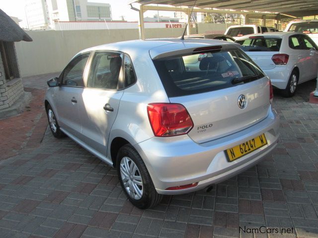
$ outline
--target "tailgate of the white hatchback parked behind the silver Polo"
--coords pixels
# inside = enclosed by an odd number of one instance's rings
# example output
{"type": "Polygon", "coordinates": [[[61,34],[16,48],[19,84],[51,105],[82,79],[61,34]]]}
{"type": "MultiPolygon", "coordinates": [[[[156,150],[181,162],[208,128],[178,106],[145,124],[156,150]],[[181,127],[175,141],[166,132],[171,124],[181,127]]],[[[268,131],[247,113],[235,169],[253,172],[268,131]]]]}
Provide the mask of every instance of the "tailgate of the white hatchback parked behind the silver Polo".
{"type": "Polygon", "coordinates": [[[281,38],[254,36],[240,38],[236,43],[241,49],[262,69],[268,70],[276,67],[272,57],[279,53],[281,38]]]}

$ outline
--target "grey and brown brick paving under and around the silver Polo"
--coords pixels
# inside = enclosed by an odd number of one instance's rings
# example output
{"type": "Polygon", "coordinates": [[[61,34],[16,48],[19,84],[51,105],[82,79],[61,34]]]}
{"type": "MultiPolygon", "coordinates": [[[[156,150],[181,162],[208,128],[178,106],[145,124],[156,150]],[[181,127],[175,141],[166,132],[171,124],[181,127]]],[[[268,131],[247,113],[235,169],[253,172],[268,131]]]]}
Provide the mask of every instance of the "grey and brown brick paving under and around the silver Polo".
{"type": "Polygon", "coordinates": [[[127,201],[114,169],[48,131],[37,148],[0,161],[0,238],[318,237],[314,88],[275,95],[281,138],[272,156],[210,192],[165,196],[144,211],[127,201]],[[290,234],[249,233],[260,227],[290,234]]]}

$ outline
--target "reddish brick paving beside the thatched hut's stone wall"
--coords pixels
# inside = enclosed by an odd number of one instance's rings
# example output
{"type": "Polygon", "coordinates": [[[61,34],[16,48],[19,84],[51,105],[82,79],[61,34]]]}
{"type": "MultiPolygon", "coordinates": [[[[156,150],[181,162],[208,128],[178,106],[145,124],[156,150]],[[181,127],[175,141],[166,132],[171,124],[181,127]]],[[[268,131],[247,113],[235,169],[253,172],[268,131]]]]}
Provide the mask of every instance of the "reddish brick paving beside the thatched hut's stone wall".
{"type": "Polygon", "coordinates": [[[22,114],[0,120],[0,160],[40,146],[47,127],[43,105],[46,81],[55,75],[51,73],[23,78],[24,91],[31,92],[32,99],[25,105],[22,114]]]}

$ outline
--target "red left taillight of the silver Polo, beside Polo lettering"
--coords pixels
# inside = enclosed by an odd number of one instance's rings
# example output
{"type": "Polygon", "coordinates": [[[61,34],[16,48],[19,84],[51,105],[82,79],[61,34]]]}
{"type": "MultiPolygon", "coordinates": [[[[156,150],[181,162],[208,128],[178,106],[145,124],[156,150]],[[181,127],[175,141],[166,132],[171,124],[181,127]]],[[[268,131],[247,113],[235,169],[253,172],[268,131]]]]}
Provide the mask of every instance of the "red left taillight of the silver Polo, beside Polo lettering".
{"type": "Polygon", "coordinates": [[[147,112],[155,136],[183,135],[193,127],[188,111],[181,104],[151,103],[147,112]]]}

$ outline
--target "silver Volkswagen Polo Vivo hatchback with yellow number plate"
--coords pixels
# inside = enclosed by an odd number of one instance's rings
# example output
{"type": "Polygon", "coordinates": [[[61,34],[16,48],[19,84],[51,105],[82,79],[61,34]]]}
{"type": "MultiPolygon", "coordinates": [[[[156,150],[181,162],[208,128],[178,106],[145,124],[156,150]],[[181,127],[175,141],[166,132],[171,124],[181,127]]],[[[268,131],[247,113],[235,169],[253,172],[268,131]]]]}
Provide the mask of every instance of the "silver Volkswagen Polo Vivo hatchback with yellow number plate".
{"type": "Polygon", "coordinates": [[[115,167],[128,199],[142,209],[163,194],[241,173],[279,138],[270,80],[235,43],[97,46],[79,52],[48,85],[53,135],[69,136],[115,167]]]}

